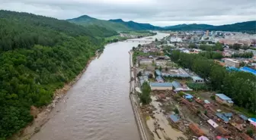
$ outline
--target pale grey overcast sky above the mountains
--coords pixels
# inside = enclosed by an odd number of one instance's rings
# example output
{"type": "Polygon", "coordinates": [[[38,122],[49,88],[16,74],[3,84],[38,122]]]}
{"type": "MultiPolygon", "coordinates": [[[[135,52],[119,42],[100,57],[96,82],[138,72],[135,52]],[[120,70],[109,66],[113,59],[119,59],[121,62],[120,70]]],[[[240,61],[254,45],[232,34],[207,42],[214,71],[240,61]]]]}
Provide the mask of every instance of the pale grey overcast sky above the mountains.
{"type": "Polygon", "coordinates": [[[256,0],[0,0],[0,9],[58,19],[89,15],[157,26],[256,20],[256,0]]]}

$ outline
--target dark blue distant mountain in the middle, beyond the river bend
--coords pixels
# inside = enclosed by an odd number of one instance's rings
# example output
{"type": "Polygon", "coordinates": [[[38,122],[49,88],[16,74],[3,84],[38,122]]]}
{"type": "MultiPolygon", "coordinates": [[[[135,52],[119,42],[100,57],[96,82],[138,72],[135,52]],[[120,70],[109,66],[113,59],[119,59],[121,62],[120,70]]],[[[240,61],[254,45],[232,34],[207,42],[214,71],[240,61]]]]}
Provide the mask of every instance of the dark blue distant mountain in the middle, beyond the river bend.
{"type": "Polygon", "coordinates": [[[109,21],[114,22],[114,23],[122,23],[123,25],[125,25],[133,30],[162,30],[161,27],[153,26],[149,23],[136,23],[134,21],[125,22],[121,19],[109,20],[109,21]]]}

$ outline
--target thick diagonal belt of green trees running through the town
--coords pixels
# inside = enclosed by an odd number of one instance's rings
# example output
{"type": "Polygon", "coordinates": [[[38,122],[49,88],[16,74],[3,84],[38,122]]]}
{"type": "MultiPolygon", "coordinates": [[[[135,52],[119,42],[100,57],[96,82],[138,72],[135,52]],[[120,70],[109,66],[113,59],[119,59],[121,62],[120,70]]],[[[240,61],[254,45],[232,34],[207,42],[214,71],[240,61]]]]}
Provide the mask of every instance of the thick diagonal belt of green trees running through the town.
{"type": "Polygon", "coordinates": [[[193,70],[208,83],[212,90],[228,95],[239,107],[256,111],[256,77],[251,73],[228,71],[201,54],[171,52],[171,60],[193,70]]]}

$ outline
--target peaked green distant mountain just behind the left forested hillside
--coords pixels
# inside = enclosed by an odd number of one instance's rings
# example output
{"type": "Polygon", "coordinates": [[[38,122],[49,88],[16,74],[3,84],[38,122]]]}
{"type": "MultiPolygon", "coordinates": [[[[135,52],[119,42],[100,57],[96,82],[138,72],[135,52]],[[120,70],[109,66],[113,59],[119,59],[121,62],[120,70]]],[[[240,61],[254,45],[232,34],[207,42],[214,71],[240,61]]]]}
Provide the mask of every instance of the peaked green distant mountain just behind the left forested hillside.
{"type": "Polygon", "coordinates": [[[91,25],[102,26],[107,30],[115,30],[115,31],[131,30],[129,27],[123,25],[122,23],[114,23],[107,20],[98,20],[97,18],[89,17],[88,15],[83,15],[81,17],[69,19],[68,21],[71,23],[82,25],[82,26],[91,26],[91,25]]]}

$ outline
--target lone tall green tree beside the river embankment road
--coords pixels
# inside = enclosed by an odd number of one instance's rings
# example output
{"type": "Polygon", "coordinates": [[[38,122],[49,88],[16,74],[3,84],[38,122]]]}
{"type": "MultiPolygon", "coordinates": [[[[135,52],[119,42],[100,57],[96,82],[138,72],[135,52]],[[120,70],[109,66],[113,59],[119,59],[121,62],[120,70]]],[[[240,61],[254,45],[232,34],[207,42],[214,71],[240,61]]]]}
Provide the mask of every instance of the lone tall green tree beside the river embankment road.
{"type": "Polygon", "coordinates": [[[152,99],[150,98],[151,88],[149,82],[143,82],[142,84],[142,94],[139,96],[142,104],[149,104],[152,99]]]}

